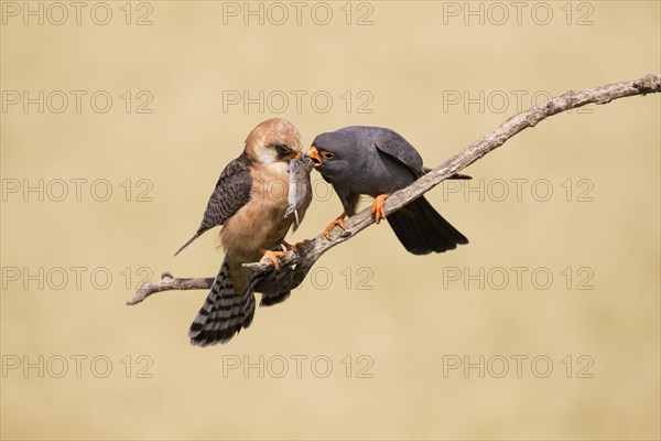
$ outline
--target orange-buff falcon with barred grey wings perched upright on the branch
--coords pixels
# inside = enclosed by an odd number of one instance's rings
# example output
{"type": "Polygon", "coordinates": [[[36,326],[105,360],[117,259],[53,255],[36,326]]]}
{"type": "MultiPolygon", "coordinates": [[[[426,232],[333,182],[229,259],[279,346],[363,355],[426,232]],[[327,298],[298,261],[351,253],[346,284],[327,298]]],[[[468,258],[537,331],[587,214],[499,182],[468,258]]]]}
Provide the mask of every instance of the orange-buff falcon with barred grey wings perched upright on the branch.
{"type": "MultiPolygon", "coordinates": [[[[301,154],[296,128],[284,119],[268,119],[248,135],[243,152],[220,173],[197,233],[175,254],[209,228],[223,225],[225,259],[188,331],[193,345],[226,343],[252,323],[253,290],[261,279],[242,265],[269,259],[279,269],[279,258],[284,256],[281,245],[286,245],[284,236],[294,220],[294,215],[286,214],[290,161],[301,154]]],[[[307,197],[299,203],[300,219],[310,202],[307,197]]],[[[280,303],[289,294],[262,295],[260,305],[280,303]]]]}

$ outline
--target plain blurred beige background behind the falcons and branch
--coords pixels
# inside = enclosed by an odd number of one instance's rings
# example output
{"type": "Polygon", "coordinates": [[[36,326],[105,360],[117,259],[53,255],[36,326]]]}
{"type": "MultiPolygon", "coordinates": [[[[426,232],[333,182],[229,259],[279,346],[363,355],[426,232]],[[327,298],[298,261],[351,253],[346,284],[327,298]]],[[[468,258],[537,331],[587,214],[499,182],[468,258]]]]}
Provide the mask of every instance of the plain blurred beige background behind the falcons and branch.
{"type": "MultiPolygon", "coordinates": [[[[216,273],[217,230],[172,255],[263,119],[306,146],[390,127],[433,166],[534,99],[660,72],[659,2],[522,3],[2,2],[2,439],[659,439],[654,95],[431,191],[469,246],[370,227],[228,345],[188,344],[204,291],[124,305],[216,273]]],[[[316,189],[292,240],[340,211],[316,189]]]]}

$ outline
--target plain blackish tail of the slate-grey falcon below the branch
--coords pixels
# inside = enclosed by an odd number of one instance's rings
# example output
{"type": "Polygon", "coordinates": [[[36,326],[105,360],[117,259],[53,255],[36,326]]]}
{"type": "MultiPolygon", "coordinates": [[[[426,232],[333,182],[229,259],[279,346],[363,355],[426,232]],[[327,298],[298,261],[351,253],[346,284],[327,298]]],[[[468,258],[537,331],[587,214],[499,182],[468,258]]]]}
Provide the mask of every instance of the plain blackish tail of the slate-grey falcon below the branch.
{"type": "Polygon", "coordinates": [[[409,252],[426,255],[455,249],[468,239],[457,232],[424,197],[419,197],[387,217],[409,252]]]}

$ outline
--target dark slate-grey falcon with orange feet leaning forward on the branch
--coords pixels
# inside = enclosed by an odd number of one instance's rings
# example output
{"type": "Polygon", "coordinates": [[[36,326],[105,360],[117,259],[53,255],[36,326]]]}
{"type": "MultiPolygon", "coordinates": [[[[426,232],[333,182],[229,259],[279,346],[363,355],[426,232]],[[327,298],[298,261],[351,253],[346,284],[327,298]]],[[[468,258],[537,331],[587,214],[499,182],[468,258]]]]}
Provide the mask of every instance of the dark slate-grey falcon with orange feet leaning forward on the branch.
{"type": "MultiPolygon", "coordinates": [[[[468,239],[443,218],[424,196],[386,217],[388,195],[430,171],[420,153],[402,136],[380,127],[351,126],[317,136],[305,153],[339,196],[344,212],[324,230],[344,229],[344,218],[356,214],[359,196],[375,197],[371,214],[377,224],[387,218],[409,252],[426,255],[455,249],[468,239]]],[[[455,174],[452,179],[469,179],[455,174]]]]}

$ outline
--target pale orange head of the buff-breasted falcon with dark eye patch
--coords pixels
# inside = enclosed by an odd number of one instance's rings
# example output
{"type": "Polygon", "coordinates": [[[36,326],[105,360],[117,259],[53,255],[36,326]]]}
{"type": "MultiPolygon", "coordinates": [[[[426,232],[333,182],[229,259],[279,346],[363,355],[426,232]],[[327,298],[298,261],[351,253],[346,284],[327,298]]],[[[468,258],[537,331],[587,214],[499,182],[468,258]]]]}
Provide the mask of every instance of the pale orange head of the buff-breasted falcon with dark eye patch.
{"type": "Polygon", "coordinates": [[[282,162],[301,158],[303,142],[299,130],[288,120],[272,118],[262,121],[246,139],[246,153],[260,164],[282,162]]]}

